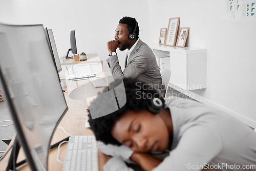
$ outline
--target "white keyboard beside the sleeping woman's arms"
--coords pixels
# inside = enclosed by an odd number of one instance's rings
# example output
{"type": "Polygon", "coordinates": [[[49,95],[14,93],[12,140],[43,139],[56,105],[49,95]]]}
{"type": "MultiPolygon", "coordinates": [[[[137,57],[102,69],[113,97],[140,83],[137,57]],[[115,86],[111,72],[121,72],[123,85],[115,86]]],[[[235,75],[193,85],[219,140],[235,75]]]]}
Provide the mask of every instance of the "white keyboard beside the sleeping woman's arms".
{"type": "Polygon", "coordinates": [[[95,136],[71,136],[62,171],[98,171],[98,148],[95,136]]]}

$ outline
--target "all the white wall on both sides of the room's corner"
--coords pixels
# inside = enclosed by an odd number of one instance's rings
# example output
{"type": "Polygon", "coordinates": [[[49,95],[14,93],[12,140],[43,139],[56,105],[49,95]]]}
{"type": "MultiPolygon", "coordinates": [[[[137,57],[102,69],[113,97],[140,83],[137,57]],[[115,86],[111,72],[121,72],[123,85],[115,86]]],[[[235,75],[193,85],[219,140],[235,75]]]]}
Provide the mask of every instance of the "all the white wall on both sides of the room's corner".
{"type": "MultiPolygon", "coordinates": [[[[70,48],[70,30],[75,30],[78,52],[98,53],[105,71],[106,41],[113,39],[121,17],[137,18],[146,43],[158,42],[160,28],[180,17],[180,27],[190,28],[187,46],[207,49],[207,88],[192,93],[256,127],[256,21],[231,19],[226,1],[0,1],[1,23],[53,29],[59,56],[70,48]]],[[[118,55],[123,67],[125,52],[118,55]]]]}

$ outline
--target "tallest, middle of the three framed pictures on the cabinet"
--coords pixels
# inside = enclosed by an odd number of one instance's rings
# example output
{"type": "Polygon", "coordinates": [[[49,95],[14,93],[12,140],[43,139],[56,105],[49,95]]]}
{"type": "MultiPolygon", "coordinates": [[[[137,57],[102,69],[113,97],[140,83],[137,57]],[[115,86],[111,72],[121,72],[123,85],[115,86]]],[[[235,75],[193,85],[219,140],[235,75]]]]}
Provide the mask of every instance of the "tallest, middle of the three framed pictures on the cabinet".
{"type": "Polygon", "coordinates": [[[166,34],[164,45],[175,46],[179,24],[180,24],[180,17],[169,19],[168,32],[166,34]]]}

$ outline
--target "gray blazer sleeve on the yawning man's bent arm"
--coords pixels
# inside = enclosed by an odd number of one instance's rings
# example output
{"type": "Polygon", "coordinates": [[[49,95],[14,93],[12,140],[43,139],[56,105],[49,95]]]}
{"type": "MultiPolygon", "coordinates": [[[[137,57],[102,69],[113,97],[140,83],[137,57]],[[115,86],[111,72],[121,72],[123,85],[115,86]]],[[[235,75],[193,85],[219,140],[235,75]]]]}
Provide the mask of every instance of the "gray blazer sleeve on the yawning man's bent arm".
{"type": "Polygon", "coordinates": [[[133,59],[133,62],[131,62],[130,65],[123,70],[123,72],[121,70],[117,55],[106,59],[106,62],[109,63],[110,71],[115,79],[123,77],[136,78],[147,70],[148,57],[140,55],[136,56],[133,59]]]}

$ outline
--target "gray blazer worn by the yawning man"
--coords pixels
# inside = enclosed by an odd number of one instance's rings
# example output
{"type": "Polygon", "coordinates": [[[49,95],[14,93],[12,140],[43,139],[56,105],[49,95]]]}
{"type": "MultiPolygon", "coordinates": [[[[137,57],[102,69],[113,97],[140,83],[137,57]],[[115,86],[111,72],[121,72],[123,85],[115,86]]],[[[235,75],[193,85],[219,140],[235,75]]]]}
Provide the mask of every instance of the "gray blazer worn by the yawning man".
{"type": "Polygon", "coordinates": [[[162,77],[156,57],[150,47],[140,39],[131,52],[123,71],[119,65],[117,55],[109,57],[106,62],[108,62],[110,71],[115,79],[123,77],[136,78],[161,89],[162,77]]]}

